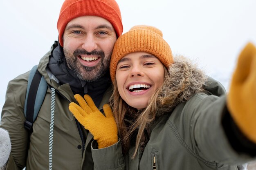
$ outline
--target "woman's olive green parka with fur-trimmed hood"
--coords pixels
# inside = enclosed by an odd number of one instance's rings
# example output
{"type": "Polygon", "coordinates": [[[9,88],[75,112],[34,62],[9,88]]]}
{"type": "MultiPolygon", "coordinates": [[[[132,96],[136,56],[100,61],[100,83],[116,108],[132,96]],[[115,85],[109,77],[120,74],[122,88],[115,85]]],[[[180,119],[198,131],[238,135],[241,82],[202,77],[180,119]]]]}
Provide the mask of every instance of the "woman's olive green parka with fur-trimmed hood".
{"type": "Polygon", "coordinates": [[[222,126],[228,114],[223,86],[204,79],[183,57],[175,59],[169,73],[157,99],[165,104],[158,106],[144,151],[140,146],[132,159],[135,146],[123,156],[120,141],[102,149],[93,141],[95,170],[237,170],[249,160],[232,148],[222,126]]]}

